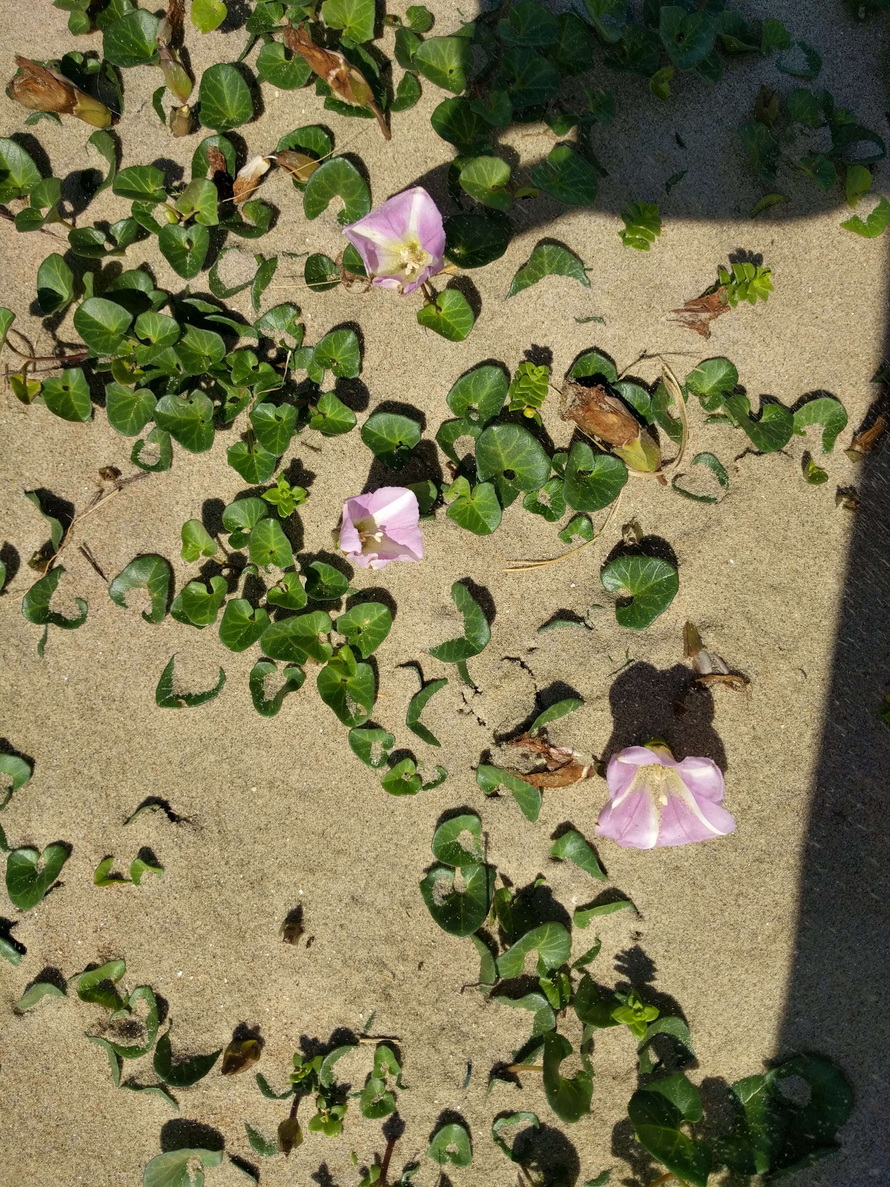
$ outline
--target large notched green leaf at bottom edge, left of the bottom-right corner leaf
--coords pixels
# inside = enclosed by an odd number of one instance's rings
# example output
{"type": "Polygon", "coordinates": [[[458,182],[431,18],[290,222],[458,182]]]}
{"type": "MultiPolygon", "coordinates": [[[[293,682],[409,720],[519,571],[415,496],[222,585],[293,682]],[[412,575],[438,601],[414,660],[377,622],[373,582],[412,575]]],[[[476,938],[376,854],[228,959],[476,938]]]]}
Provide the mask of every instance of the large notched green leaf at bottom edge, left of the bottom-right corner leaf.
{"type": "Polygon", "coordinates": [[[682,1072],[638,1088],[628,1104],[628,1116],[640,1144],[682,1182],[707,1187],[711,1150],[680,1130],[684,1121],[699,1121],[698,1092],[682,1072]]]}

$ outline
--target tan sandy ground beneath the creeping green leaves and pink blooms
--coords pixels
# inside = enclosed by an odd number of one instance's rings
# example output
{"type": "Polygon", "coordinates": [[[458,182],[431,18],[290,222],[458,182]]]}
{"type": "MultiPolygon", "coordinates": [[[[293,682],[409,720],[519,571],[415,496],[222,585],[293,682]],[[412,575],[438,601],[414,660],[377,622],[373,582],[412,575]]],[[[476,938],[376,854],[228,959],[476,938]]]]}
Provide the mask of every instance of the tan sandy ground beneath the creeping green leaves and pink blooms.
{"type": "MultiPolygon", "coordinates": [[[[13,52],[50,58],[72,47],[64,13],[46,2],[15,6],[13,30],[12,7],[6,6],[2,32],[5,75],[12,74],[13,52]]],[[[458,15],[451,6],[432,7],[440,32],[453,27],[458,15]]],[[[742,8],[762,15],[754,2],[742,8]]],[[[885,127],[885,25],[854,24],[841,5],[827,0],[815,6],[780,0],[770,12],[822,53],[819,85],[827,87],[837,103],[852,107],[864,123],[885,127]]],[[[233,61],[243,38],[243,30],[204,38],[189,32],[195,76],[215,61],[233,61]]],[[[90,36],[77,47],[98,44],[98,37],[90,36]]],[[[661,104],[644,81],[614,74],[596,78],[597,85],[615,89],[618,106],[615,126],[595,133],[596,151],[609,169],[600,198],[592,209],[541,203],[536,214],[517,214],[508,253],[471,274],[481,315],[465,343],[421,331],[412,298],[342,288],[307,292],[301,260],[281,261],[266,305],[286,299],[301,305],[310,344],[331,326],[358,323],[363,367],[351,398],[361,410],[360,423],[365,408],[386,401],[411,405],[422,413],[428,442],[451,415],[445,395],[463,372],[487,358],[514,369],[532,347],[552,353],[558,379],[579,351],[593,345],[619,367],[647,349],[686,353],[674,360],[681,375],[701,357],[727,355],[755,404],[761,393],[790,406],[805,393],[827,391],[847,407],[852,429],[875,398],[870,380],[884,351],[885,241],[841,230],[845,215],[833,199],[814,199],[807,188],[797,192],[794,180],[794,202],[775,221],[749,221],[761,191],[746,172],[735,128],[762,82],[784,91],[794,84],[771,61],[743,59],[730,63],[718,91],[681,77],[669,103],[661,104]],[[666,196],[665,179],[681,169],[688,170],[685,180],[666,196]],[[665,220],[649,254],[624,249],[617,234],[618,211],[638,197],[660,201],[665,220]],[[552,279],[506,301],[510,278],[545,235],[558,236],[591,266],[590,290],[552,279]],[[717,264],[738,249],[762,253],[773,267],[776,292],[769,305],[721,319],[711,343],[670,325],[667,311],[698,294],[717,264]],[[604,324],[580,324],[595,316],[604,324]]],[[[151,106],[159,83],[160,74],[152,68],[126,74],[126,113],[116,128],[121,163],[159,161],[171,178],[187,177],[199,137],[173,140],[161,129],[151,106]]],[[[394,118],[393,140],[384,144],[374,123],[324,113],[312,88],[279,93],[263,84],[262,114],[233,139],[253,154],[274,148],[294,127],[323,122],[338,147],[363,161],[375,203],[425,179],[446,205],[444,174],[452,153],[428,125],[441,97],[424,83],[419,107],[394,118]]],[[[40,122],[25,129],[23,110],[4,97],[0,128],[4,134],[33,131],[52,172],[66,179],[66,193],[78,203],[80,172],[101,164],[85,147],[85,125],[68,120],[62,127],[40,122]]],[[[539,160],[552,144],[542,125],[513,127],[504,140],[522,165],[539,160]]],[[[23,142],[33,145],[30,139],[23,142]]],[[[875,189],[885,185],[882,165],[875,189]]],[[[256,245],[263,253],[336,254],[342,247],[333,210],[307,222],[299,195],[282,173],[269,174],[262,196],[279,210],[274,230],[256,245]]],[[[89,210],[83,205],[81,201],[78,226],[127,212],[110,191],[89,210]]],[[[17,311],[17,324],[45,354],[76,341],[70,316],[52,329],[30,312],[37,267],[56,249],[64,247],[49,236],[2,228],[4,304],[17,311]]],[[[126,266],[142,260],[160,287],[182,291],[183,283],[153,241],[132,247],[126,266]]],[[[192,291],[205,292],[205,284],[204,274],[192,291]]],[[[230,304],[249,313],[247,293],[230,304]]],[[[647,380],[657,373],[651,362],[635,369],[647,380]]],[[[552,404],[543,408],[545,427],[564,446],[570,430],[552,404]]],[[[489,1137],[492,1118],[515,1109],[534,1110],[541,1118],[540,1156],[548,1181],[583,1183],[606,1167],[615,1168],[614,1182],[642,1187],[655,1179],[654,1163],[629,1138],[625,1105],[636,1073],[625,1032],[605,1032],[597,1040],[592,1116],[574,1126],[557,1122],[538,1083],[529,1081],[521,1092],[496,1085],[487,1094],[489,1069],[521,1046],[530,1016],[463,990],[477,978],[476,952],[469,940],[437,928],[418,889],[431,862],[437,820],[466,807],[481,813],[489,859],[514,886],[543,875],[553,899],[570,912],[599,893],[602,886],[577,868],[551,862],[548,849],[552,833],[566,821],[592,838],[605,800],[602,779],[545,793],[535,824],[521,815],[511,798],[485,800],[475,781],[479,755],[495,737],[528,722],[567,690],[585,704],[554,726],[555,741],[608,756],[661,734],[678,756],[710,755],[725,770],[726,806],[738,821],[731,837],[681,849],[637,852],[599,844],[609,886],[629,895],[640,915],[622,912],[602,919],[597,979],[608,985],[632,980],[656,1001],[663,995],[679,1003],[695,1045],[689,1074],[704,1085],[707,1098],[716,1098],[721,1083],[761,1071],[770,1058],[800,1049],[835,1058],[856,1086],[859,1109],[843,1135],[843,1154],[805,1173],[801,1181],[808,1187],[886,1181],[890,1161],[879,1123],[885,1072],[872,1059],[881,1049],[878,978],[870,983],[869,998],[853,966],[851,980],[834,986],[831,1018],[814,1022],[820,986],[826,984],[819,953],[828,969],[832,951],[844,942],[843,919],[833,934],[822,933],[820,918],[810,912],[808,942],[815,963],[802,979],[794,979],[801,918],[813,906],[801,878],[810,800],[820,786],[824,724],[833,716],[835,633],[845,588],[848,594],[860,579],[853,566],[845,586],[856,516],[835,510],[834,495],[838,487],[860,483],[864,468],[857,469],[838,447],[825,461],[829,481],[809,487],[801,477],[801,457],[807,447],[818,453],[815,430],[809,440],[795,438],[780,455],[756,456],[743,451],[739,433],[705,427],[700,408],[691,407],[689,414],[689,456],[713,450],[730,472],[729,493],[717,507],[687,502],[654,482],[631,481],[600,541],[560,565],[519,575],[504,572],[508,560],[561,550],[558,526],[523,513],[516,503],[495,535],[479,539],[440,510],[434,522],[424,525],[422,565],[355,573],[356,588],[384,590],[396,609],[393,630],[376,654],[374,719],[392,729],[398,745],[409,747],[427,768],[440,762],[449,772],[436,791],[396,799],[382,792],[379,775],[348,749],[345,729],[314,691],[313,673],[278,717],[259,717],[248,694],[255,648],[235,655],[216,631],[191,631],[170,617],[146,624],[138,608],[125,611],[112,603],[77,550],[77,544],[88,544],[109,577],[133,557],[159,552],[182,588],[195,576],[195,566],[179,557],[182,523],[202,515],[212,522],[224,503],[244,491],[224,456],[225,446],[237,439],[237,427],[220,431],[209,453],[177,450],[169,472],[133,485],[83,523],[64,564],[70,594],[87,598],[89,618],[76,631],[52,630],[45,658],[38,659],[39,628],[21,617],[19,601],[32,577],[26,561],[45,541],[46,529],[24,491],[51,491],[82,508],[96,489],[101,466],[133,472],[132,443],[109,427],[101,408],[94,421],[71,425],[4,393],[2,539],[18,551],[21,565],[0,599],[2,735],[33,758],[34,773],[4,811],[2,825],[13,845],[62,839],[72,850],[62,886],[34,910],[5,908],[27,954],[19,967],[4,964],[0,970],[0,1182],[135,1187],[145,1163],[176,1144],[177,1134],[182,1137],[184,1121],[216,1131],[192,1144],[224,1140],[229,1154],[261,1163],[265,1187],[350,1187],[357,1181],[350,1151],[368,1163],[382,1150],[380,1124],[362,1119],[354,1103],[341,1140],[307,1135],[290,1161],[260,1160],[248,1145],[243,1119],[269,1136],[287,1105],[265,1099],[252,1073],[223,1079],[214,1069],[195,1087],[174,1093],[180,1109],[174,1115],[151,1094],[113,1088],[106,1055],[83,1037],[106,1026],[106,1011],[81,1003],[74,990],[68,999],[13,1014],[12,1003],[42,970],[70,977],[89,963],[117,957],[126,959],[127,986],[151,984],[164,998],[178,1054],[217,1049],[235,1028],[255,1028],[265,1045],[259,1069],[278,1091],[285,1088],[292,1053],[301,1045],[328,1042],[344,1028],[358,1033],[374,1014],[373,1033],[399,1036],[411,1090],[399,1094],[406,1130],[394,1164],[419,1154],[422,1167],[415,1182],[421,1187],[437,1181],[424,1151],[443,1111],[463,1116],[472,1131],[473,1163],[451,1174],[462,1187],[509,1187],[515,1181],[514,1168],[489,1137]],[[643,634],[617,626],[598,576],[621,526],[634,519],[647,535],[667,541],[680,572],[674,603],[643,634]],[[449,597],[458,578],[487,590],[494,609],[491,642],[470,662],[475,693],[453,667],[427,654],[458,633],[460,620],[449,597]],[[592,611],[590,631],[538,634],[555,611],[581,615],[591,603],[604,609],[592,611]],[[682,660],[687,618],[699,626],[708,647],[750,678],[750,688],[718,688],[681,718],[674,698],[688,672],[682,660]],[[158,677],[174,652],[185,687],[206,687],[218,666],[224,667],[228,683],[217,700],[182,712],[155,707],[158,677]],[[412,661],[420,664],[426,680],[449,678],[425,715],[440,749],[421,743],[403,724],[418,687],[414,669],[406,667],[412,661]],[[182,819],[171,823],[164,813],[146,813],[125,827],[150,795],[167,800],[182,819]],[[121,869],[140,846],[157,853],[163,880],[148,876],[139,889],[94,886],[93,871],[102,857],[114,855],[121,869]],[[297,907],[303,908],[306,931],[298,946],[288,946],[279,939],[279,926],[297,907]],[[846,1018],[858,1021],[847,1024],[846,1018]]],[[[840,446],[848,437],[847,431],[840,446]]],[[[439,477],[444,458],[432,445],[425,457],[427,472],[439,477]]],[[[380,483],[380,468],[371,468],[371,461],[357,431],[335,439],[310,431],[294,438],[284,468],[292,477],[301,475],[299,481],[310,488],[298,514],[303,561],[330,553],[330,532],[343,500],[369,480],[380,483]]],[[[860,515],[867,513],[864,507],[860,515]]],[[[867,532],[863,537],[865,545],[875,538],[867,532]]],[[[886,588],[886,567],[876,560],[872,577],[877,580],[882,572],[886,588]]],[[[869,635],[857,634],[860,621],[847,627],[845,637],[856,636],[865,668],[885,655],[886,618],[869,635]]],[[[862,745],[867,754],[860,775],[875,795],[879,786],[869,772],[879,772],[883,763],[885,776],[890,756],[873,713],[883,692],[872,678],[877,680],[879,671],[865,672],[862,684],[845,685],[852,707],[841,744],[862,745]]],[[[846,769],[843,758],[838,762],[846,769]]],[[[872,800],[866,796],[865,804],[872,800]]],[[[848,829],[850,844],[877,826],[867,813],[858,817],[848,829]]],[[[834,844],[846,844],[846,833],[838,840],[832,829],[821,846],[824,861],[834,844]]],[[[869,874],[854,853],[851,850],[844,867],[853,881],[838,887],[838,894],[852,904],[850,927],[856,926],[857,903],[865,904],[867,926],[859,928],[858,942],[863,960],[879,963],[886,951],[879,947],[877,931],[883,902],[872,875],[881,863],[875,859],[869,874]],[[858,877],[860,887],[853,884],[858,877]]],[[[825,909],[834,900],[833,888],[826,886],[825,909]]],[[[593,928],[573,933],[574,956],[590,946],[593,934],[593,928]]],[[[577,1042],[577,1024],[566,1020],[565,1029],[577,1042]]],[[[361,1086],[369,1068],[370,1048],[362,1047],[338,1072],[361,1086]]],[[[147,1059],[125,1067],[125,1073],[138,1084],[155,1083],[147,1059]]],[[[228,1160],[209,1176],[208,1182],[220,1187],[243,1181],[228,1160]]]]}

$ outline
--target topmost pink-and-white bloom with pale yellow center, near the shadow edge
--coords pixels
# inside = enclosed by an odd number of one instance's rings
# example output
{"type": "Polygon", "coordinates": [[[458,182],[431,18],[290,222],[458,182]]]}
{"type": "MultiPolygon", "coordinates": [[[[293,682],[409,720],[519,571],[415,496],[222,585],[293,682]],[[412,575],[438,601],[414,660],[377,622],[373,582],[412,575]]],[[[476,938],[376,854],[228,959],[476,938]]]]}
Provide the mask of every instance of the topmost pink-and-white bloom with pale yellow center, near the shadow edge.
{"type": "Polygon", "coordinates": [[[382,288],[414,292],[445,262],[441,215],[421,185],[396,193],[343,234],[382,288]]]}

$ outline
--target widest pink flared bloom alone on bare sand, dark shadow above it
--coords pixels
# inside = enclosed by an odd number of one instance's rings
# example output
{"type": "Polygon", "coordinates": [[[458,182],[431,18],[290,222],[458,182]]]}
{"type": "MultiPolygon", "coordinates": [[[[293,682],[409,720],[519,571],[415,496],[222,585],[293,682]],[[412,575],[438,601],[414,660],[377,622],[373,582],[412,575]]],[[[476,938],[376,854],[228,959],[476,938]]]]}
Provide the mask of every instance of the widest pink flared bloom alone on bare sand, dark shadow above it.
{"type": "Polygon", "coordinates": [[[625,849],[688,845],[732,832],[723,800],[723,774],[711,758],[678,762],[663,742],[630,745],[609,760],[610,801],[597,836],[625,849]]]}

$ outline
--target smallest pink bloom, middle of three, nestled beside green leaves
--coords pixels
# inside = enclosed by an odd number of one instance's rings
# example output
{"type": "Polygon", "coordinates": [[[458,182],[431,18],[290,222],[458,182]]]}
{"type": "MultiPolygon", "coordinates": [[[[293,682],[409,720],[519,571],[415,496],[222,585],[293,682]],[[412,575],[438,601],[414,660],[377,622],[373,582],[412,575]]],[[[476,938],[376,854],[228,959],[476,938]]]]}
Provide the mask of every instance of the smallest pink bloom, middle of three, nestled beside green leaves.
{"type": "Polygon", "coordinates": [[[418,496],[406,487],[381,487],[343,503],[341,551],[361,569],[390,560],[422,560],[418,496]]]}

